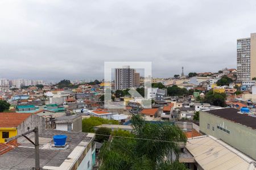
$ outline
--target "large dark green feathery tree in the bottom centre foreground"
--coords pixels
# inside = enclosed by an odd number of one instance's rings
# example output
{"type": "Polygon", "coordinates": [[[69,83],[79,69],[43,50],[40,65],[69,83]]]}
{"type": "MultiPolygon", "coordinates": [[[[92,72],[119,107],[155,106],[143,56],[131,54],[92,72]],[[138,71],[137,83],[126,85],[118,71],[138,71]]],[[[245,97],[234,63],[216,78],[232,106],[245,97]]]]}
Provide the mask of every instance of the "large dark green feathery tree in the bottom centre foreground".
{"type": "Polygon", "coordinates": [[[164,162],[172,152],[179,157],[180,148],[175,142],[187,141],[181,129],[167,122],[146,122],[140,115],[133,116],[131,124],[134,138],[127,134],[128,138],[113,137],[104,143],[100,169],[185,169],[179,162],[164,162]]]}

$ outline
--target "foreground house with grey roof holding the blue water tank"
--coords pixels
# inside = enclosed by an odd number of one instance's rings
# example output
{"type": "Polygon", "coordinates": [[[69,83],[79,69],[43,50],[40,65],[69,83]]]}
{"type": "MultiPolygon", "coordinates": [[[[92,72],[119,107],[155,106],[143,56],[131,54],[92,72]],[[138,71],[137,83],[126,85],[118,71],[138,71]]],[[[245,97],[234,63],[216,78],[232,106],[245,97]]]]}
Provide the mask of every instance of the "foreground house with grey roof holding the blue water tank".
{"type": "MultiPolygon", "coordinates": [[[[92,170],[96,160],[94,138],[92,133],[46,130],[39,135],[40,168],[92,170]],[[54,145],[53,136],[58,134],[67,136],[64,147],[54,145]]],[[[0,169],[35,169],[35,146],[32,143],[26,140],[12,148],[0,156],[0,169]]]]}

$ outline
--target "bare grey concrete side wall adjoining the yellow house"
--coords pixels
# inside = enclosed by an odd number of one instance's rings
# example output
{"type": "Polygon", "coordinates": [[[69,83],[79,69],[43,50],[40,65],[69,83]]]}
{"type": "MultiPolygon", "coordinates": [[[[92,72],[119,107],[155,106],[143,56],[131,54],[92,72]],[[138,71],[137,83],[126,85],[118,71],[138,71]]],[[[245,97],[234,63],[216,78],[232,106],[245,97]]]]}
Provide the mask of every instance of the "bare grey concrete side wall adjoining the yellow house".
{"type": "MultiPolygon", "coordinates": [[[[22,114],[22,113],[20,113],[22,114]]],[[[28,117],[24,122],[22,122],[17,127],[17,134],[22,134],[28,131],[28,127],[30,130],[34,129],[36,126],[38,126],[39,134],[44,133],[46,130],[46,120],[43,117],[40,117],[36,114],[32,114],[30,117],[28,117]]],[[[34,133],[28,134],[27,137],[30,137],[34,135],[34,133]]],[[[18,142],[26,140],[25,138],[18,138],[18,142]]]]}

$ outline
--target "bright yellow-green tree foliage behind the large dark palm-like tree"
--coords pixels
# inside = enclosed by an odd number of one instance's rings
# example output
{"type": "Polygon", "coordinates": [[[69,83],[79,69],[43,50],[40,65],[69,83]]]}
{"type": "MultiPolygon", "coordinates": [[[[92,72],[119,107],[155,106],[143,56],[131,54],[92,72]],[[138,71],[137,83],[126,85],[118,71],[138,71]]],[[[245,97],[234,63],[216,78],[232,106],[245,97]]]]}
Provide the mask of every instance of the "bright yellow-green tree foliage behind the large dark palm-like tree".
{"type": "Polygon", "coordinates": [[[100,117],[84,118],[82,120],[82,131],[86,133],[94,133],[94,126],[102,124],[118,125],[118,121],[108,120],[100,117]]]}

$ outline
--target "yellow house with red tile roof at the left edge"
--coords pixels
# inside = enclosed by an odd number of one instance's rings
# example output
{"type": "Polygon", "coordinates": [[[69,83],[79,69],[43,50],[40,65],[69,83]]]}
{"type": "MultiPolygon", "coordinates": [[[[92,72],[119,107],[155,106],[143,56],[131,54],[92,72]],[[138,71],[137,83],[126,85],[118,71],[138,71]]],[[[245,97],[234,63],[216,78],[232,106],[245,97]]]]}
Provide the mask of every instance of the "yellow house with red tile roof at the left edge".
{"type": "Polygon", "coordinates": [[[0,113],[0,143],[17,135],[17,127],[30,116],[31,113],[0,113]]]}

